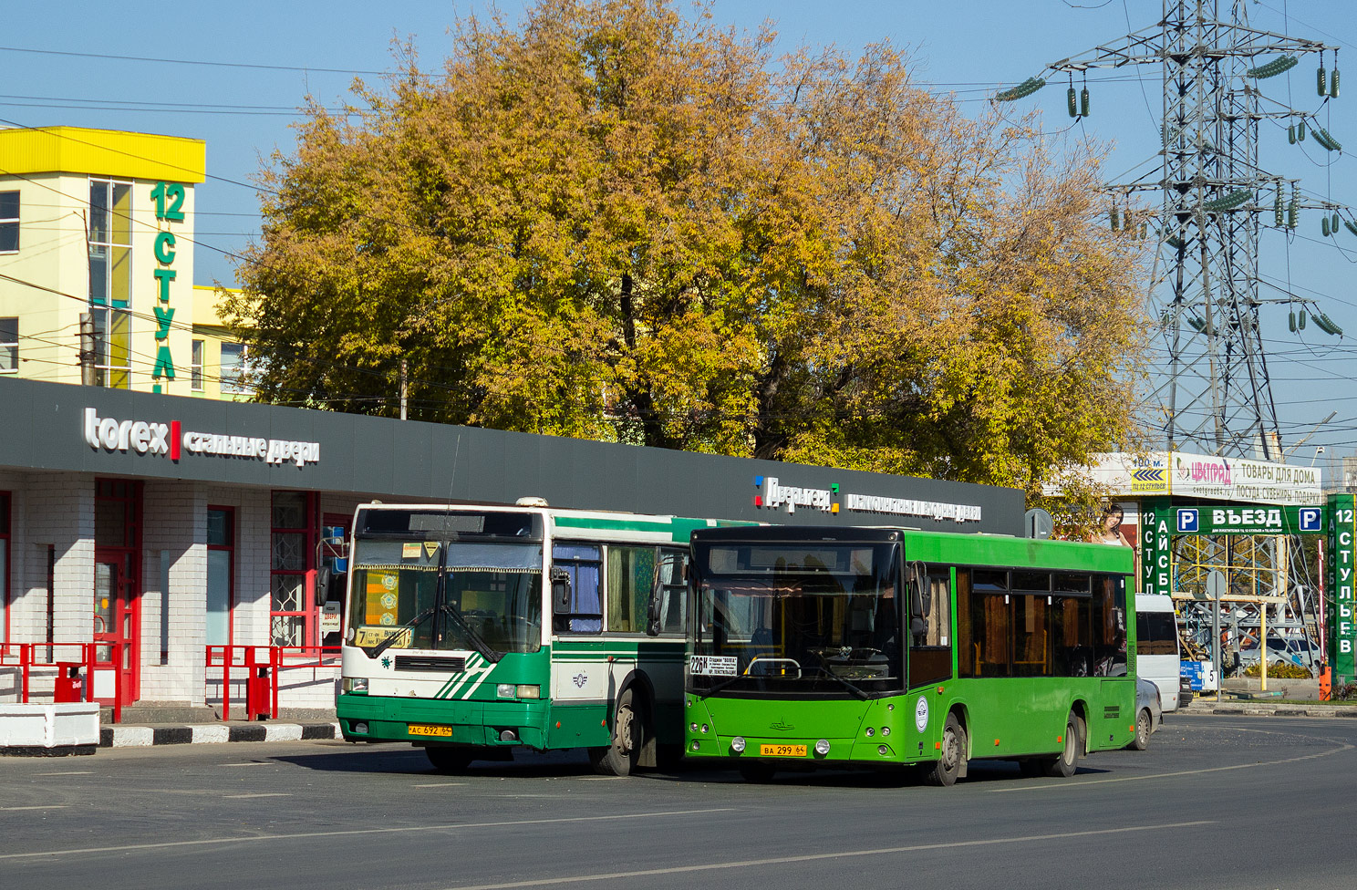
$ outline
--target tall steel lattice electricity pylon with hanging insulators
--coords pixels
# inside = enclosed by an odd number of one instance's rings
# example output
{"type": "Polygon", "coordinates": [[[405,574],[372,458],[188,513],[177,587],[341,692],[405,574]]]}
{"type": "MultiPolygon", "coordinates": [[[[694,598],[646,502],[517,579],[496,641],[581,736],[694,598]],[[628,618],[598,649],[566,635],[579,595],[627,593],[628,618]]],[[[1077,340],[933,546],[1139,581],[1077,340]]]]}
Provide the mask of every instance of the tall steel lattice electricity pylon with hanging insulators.
{"type": "MultiPolygon", "coordinates": [[[[1320,56],[1322,69],[1326,52],[1337,53],[1316,41],[1251,27],[1242,0],[1164,0],[1158,24],[1048,66],[1069,77],[1071,115],[1088,114],[1087,84],[1076,95],[1075,76],[1083,79],[1096,68],[1153,65],[1162,71],[1162,164],[1137,180],[1105,189],[1113,195],[1114,227],[1120,217],[1128,229],[1145,225],[1159,239],[1149,308],[1166,361],[1144,408],[1147,423],[1162,430],[1167,450],[1281,463],[1259,307],[1285,303],[1295,311],[1299,305],[1301,324],[1308,311],[1316,327],[1341,334],[1308,298],[1289,293],[1262,298],[1258,279],[1263,217],[1272,217],[1277,228],[1295,228],[1301,210],[1319,209],[1326,229],[1329,214],[1338,225],[1339,205],[1303,198],[1299,180],[1258,163],[1261,121],[1291,122],[1292,136],[1299,126],[1304,138],[1312,117],[1265,98],[1259,81],[1308,54],[1320,56]],[[1223,5],[1229,7],[1224,19],[1223,5]],[[1159,209],[1136,216],[1130,208],[1137,193],[1159,193],[1159,209]],[[1117,202],[1130,210],[1129,217],[1117,202]]],[[[996,98],[1030,95],[1041,80],[996,98]]],[[[1329,79],[1320,75],[1320,80],[1327,102],[1329,79]]],[[[1311,126],[1311,132],[1320,148],[1339,148],[1323,129],[1311,126]]]]}

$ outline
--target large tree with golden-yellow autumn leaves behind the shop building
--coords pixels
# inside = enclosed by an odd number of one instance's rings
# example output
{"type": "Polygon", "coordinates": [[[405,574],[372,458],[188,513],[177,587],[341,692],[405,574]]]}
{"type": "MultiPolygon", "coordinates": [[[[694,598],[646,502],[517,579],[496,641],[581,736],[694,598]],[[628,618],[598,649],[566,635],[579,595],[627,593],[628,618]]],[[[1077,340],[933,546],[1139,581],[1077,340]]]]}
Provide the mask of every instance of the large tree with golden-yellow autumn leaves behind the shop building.
{"type": "Polygon", "coordinates": [[[1129,441],[1139,244],[1096,157],[889,46],[668,0],[468,19],[307,109],[228,315],[261,398],[1026,487],[1129,441]]]}

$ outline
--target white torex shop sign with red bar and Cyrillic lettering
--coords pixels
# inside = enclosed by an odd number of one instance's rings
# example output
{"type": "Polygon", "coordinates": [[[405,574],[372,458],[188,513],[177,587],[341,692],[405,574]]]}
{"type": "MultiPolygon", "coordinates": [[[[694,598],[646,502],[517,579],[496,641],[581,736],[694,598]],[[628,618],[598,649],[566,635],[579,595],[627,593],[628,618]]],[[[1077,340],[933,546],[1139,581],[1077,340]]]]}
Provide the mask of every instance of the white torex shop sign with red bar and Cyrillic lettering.
{"type": "Polygon", "coordinates": [[[185,452],[212,457],[244,457],[266,464],[292,461],[297,467],[320,461],[320,442],[296,442],[254,436],[221,436],[183,430],[179,421],[118,421],[100,418],[85,408],[81,418],[85,445],[110,452],[167,456],[179,460],[185,452]]]}

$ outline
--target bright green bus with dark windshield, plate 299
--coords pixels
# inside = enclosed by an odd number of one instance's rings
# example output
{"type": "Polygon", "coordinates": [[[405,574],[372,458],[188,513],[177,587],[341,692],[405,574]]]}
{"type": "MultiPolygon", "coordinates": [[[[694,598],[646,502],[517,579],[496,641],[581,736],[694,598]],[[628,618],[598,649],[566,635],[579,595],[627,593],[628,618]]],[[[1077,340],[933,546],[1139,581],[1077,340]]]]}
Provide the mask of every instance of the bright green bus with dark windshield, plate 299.
{"type": "Polygon", "coordinates": [[[950,786],[978,757],[1071,776],[1134,737],[1132,567],[1071,541],[696,529],[684,753],[748,780],[913,767],[950,786]]]}

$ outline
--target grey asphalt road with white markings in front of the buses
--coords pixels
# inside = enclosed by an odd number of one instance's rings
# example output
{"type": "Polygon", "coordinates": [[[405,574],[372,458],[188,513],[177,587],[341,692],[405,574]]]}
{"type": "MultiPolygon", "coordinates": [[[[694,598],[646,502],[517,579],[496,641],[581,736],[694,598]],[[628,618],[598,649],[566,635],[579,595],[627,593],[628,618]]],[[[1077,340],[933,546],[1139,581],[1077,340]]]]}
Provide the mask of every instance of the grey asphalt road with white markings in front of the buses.
{"type": "Polygon", "coordinates": [[[0,757],[0,887],[1346,890],[1354,745],[1354,719],[1170,716],[1073,779],[973,762],[953,788],[577,754],[448,777],[343,742],[0,757]]]}

